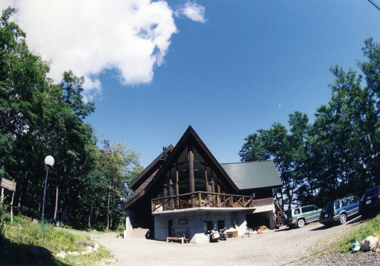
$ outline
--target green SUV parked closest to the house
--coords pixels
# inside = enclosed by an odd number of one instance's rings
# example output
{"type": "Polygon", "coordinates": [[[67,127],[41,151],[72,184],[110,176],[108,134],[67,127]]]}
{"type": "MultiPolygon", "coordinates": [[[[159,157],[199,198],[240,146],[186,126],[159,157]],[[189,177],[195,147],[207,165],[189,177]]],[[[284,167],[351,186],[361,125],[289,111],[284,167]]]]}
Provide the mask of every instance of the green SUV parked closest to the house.
{"type": "Polygon", "coordinates": [[[301,206],[290,210],[285,210],[282,216],[284,225],[289,228],[303,227],[305,223],[318,221],[322,209],[318,209],[315,205],[301,206]]]}

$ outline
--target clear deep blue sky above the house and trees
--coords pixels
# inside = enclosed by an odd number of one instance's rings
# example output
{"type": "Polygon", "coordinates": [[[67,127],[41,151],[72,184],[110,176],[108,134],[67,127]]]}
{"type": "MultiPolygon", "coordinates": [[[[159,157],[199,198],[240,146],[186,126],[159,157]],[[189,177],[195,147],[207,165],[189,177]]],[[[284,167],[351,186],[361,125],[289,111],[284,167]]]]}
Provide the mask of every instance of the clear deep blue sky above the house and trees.
{"type": "MultiPolygon", "coordinates": [[[[380,11],[366,0],[198,0],[190,2],[204,8],[198,21],[181,11],[188,2],[167,3],[176,32],[168,34],[169,45],[158,42],[156,49],[166,50],[150,78],[128,81],[129,72],[112,63],[117,59],[76,73],[96,75],[93,82],[101,83],[91,96],[97,109],[87,122],[100,139],[139,151],[144,167],[163,146],[175,145],[189,125],[220,163],[239,161],[244,138],[257,129],[287,124],[295,110],[312,121],[331,96],[329,67],[357,70],[363,41],[380,42],[380,11]]],[[[27,14],[20,13],[16,21],[23,27],[27,14]]],[[[35,47],[43,56],[43,47],[35,47]]],[[[107,51],[117,55],[118,49],[107,51]]]]}

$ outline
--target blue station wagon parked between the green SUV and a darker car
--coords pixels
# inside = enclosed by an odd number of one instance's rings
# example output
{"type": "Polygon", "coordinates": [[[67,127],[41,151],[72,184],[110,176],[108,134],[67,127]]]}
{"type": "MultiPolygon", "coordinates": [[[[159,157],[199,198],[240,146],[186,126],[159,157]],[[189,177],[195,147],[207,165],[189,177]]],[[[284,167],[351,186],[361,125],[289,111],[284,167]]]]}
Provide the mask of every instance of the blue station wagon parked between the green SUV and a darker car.
{"type": "Polygon", "coordinates": [[[323,225],[328,225],[334,222],[339,222],[341,225],[347,221],[347,217],[359,215],[359,201],[355,196],[331,201],[323,207],[319,222],[323,225]]]}

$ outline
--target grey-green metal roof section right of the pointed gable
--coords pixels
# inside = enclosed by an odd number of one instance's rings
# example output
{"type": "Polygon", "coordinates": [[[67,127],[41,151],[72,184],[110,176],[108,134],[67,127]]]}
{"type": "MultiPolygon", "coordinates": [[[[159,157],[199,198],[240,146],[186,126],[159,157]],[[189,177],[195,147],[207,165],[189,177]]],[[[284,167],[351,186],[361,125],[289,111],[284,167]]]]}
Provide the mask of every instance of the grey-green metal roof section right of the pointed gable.
{"type": "Polygon", "coordinates": [[[220,166],[239,190],[282,186],[273,161],[234,162],[220,166]]]}

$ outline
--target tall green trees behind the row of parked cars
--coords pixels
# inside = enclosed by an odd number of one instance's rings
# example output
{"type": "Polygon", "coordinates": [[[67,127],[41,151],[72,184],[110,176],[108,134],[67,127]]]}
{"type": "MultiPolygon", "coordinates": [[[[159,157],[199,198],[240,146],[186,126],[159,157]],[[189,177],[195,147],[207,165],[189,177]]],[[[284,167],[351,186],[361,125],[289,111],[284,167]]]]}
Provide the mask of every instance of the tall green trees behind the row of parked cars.
{"type": "Polygon", "coordinates": [[[380,44],[364,41],[368,61],[359,62],[363,76],[330,68],[331,100],[321,105],[315,121],[289,115],[289,132],[274,123],[249,135],[239,153],[242,161],[272,159],[283,182],[275,191],[281,207],[315,204],[380,184],[380,44]]]}

